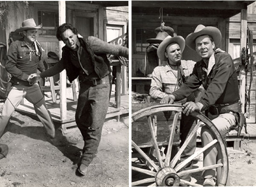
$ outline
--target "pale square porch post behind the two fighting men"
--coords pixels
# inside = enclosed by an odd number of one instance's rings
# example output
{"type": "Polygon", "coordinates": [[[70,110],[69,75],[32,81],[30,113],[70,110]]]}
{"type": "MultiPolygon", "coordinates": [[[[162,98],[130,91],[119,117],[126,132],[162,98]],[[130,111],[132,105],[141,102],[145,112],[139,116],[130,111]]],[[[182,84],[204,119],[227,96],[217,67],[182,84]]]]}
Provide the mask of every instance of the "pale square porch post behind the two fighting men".
{"type": "MultiPolygon", "coordinates": [[[[58,11],[59,11],[59,25],[66,23],[66,3],[65,1],[58,1],[58,11]]],[[[64,43],[59,41],[59,57],[61,58],[62,47],[64,43]]],[[[61,121],[67,119],[67,77],[66,70],[62,71],[60,74],[60,110],[61,110],[61,121]]]]}

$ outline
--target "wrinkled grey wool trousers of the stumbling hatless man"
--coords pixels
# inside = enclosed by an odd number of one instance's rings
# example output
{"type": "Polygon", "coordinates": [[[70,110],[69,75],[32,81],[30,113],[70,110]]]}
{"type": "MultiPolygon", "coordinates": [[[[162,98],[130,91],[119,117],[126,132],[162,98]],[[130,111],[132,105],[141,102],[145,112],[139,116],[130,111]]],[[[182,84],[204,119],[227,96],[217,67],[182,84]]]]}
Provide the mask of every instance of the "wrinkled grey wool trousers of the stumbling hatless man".
{"type": "Polygon", "coordinates": [[[80,85],[76,124],[84,138],[81,163],[88,166],[97,153],[109,105],[109,84],[80,85]]]}

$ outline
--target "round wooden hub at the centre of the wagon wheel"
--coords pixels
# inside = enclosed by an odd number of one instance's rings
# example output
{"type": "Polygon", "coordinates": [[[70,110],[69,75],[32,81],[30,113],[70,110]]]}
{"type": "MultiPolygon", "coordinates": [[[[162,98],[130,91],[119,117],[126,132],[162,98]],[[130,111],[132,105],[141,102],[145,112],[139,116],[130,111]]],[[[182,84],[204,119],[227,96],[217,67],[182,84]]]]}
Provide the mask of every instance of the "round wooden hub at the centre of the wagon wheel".
{"type": "Polygon", "coordinates": [[[180,178],[171,167],[161,168],[155,177],[157,186],[179,186],[180,178]]]}

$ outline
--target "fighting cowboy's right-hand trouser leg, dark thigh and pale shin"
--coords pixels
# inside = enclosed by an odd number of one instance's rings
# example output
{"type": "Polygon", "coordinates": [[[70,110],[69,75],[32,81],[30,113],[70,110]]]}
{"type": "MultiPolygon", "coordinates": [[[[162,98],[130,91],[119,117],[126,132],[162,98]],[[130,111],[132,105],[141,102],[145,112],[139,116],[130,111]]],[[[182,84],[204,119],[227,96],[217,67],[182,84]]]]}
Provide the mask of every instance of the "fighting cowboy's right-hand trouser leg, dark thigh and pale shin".
{"type": "Polygon", "coordinates": [[[42,94],[38,83],[27,88],[28,90],[25,98],[34,105],[35,113],[37,114],[39,120],[44,125],[44,128],[46,129],[46,132],[49,135],[49,137],[54,138],[55,127],[52,122],[51,114],[47,110],[46,103],[44,100],[44,95],[42,94]]]}

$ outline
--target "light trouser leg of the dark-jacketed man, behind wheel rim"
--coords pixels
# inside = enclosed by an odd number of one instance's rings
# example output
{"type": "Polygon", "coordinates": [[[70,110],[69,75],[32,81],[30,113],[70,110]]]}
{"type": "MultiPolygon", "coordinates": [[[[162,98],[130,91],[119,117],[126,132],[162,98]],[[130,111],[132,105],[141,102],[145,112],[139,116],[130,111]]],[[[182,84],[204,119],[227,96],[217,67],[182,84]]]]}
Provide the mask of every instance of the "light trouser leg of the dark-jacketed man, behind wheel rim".
{"type": "MultiPolygon", "coordinates": [[[[209,116],[209,119],[212,120],[213,124],[217,127],[218,131],[221,133],[224,141],[226,140],[227,133],[229,132],[230,127],[236,125],[236,118],[231,113],[224,113],[215,116],[209,116]]],[[[201,141],[202,146],[207,145],[215,139],[213,133],[209,130],[209,128],[204,125],[201,130],[201,141]]],[[[218,144],[214,144],[212,147],[204,151],[204,167],[213,165],[216,163],[222,162],[222,155],[220,147],[218,144]]],[[[203,173],[204,178],[216,177],[216,170],[210,169],[205,170],[203,173]]]]}

